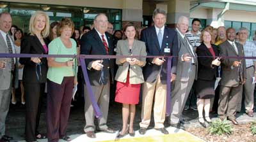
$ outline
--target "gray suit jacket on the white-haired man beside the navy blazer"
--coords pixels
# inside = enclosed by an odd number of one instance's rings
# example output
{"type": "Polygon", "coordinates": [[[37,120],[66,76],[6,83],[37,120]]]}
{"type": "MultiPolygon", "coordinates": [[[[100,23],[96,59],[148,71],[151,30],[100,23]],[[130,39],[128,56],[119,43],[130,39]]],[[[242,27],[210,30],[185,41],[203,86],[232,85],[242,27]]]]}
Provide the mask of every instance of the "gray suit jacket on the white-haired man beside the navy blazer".
{"type": "MultiPolygon", "coordinates": [[[[186,36],[185,36],[186,38],[186,36]]],[[[191,62],[184,62],[182,61],[182,55],[185,53],[189,53],[191,57],[193,57],[195,66],[196,66],[196,73],[195,73],[195,80],[197,79],[197,70],[198,70],[198,63],[197,63],[197,57],[194,50],[191,51],[190,47],[188,46],[188,43],[191,45],[188,38],[186,38],[188,42],[178,34],[178,48],[179,48],[179,57],[178,57],[178,63],[177,63],[177,75],[176,80],[182,81],[182,82],[188,82],[189,80],[189,66],[191,66],[191,62]],[[193,53],[192,53],[193,52],[193,53]]],[[[192,46],[192,45],[191,45],[192,46]]]]}

